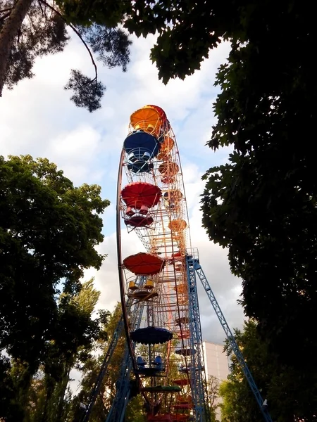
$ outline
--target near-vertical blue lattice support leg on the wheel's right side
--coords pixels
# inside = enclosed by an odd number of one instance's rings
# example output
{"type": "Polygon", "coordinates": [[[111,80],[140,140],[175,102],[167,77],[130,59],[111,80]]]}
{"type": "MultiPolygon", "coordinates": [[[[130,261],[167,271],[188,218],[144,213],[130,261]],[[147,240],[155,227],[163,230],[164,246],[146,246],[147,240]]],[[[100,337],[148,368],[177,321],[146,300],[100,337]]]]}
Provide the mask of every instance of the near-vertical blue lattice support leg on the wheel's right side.
{"type": "Polygon", "coordinates": [[[209,407],[206,391],[206,373],[204,371],[204,353],[202,350],[201,324],[199,316],[199,302],[197,295],[197,283],[195,277],[194,261],[192,257],[186,257],[187,285],[189,298],[189,333],[192,350],[190,362],[192,398],[194,403],[194,416],[197,422],[210,421],[209,407]]]}

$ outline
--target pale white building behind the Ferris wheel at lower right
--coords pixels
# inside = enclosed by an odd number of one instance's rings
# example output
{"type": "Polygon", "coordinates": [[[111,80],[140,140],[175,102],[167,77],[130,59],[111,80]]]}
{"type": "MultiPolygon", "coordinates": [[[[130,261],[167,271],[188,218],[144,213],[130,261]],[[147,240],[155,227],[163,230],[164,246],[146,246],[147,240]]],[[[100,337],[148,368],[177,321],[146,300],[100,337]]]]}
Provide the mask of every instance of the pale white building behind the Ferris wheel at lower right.
{"type": "MultiPolygon", "coordinates": [[[[216,345],[204,341],[203,350],[207,380],[209,380],[211,376],[217,378],[219,383],[226,380],[230,371],[228,356],[223,352],[223,345],[216,345]]],[[[219,402],[220,399],[216,399],[215,404],[219,404],[219,402]]],[[[216,416],[218,421],[220,421],[220,409],[216,410],[216,416]]]]}

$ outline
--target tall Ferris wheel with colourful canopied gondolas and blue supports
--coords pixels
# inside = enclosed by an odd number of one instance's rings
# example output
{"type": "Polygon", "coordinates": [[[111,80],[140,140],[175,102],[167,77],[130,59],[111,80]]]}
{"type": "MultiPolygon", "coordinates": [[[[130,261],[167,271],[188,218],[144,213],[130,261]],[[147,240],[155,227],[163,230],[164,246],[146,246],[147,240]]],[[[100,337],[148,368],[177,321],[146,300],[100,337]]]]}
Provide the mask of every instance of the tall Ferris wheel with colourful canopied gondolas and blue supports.
{"type": "Polygon", "coordinates": [[[264,420],[271,422],[266,402],[201,268],[198,251],[190,247],[180,155],[166,113],[157,106],[144,106],[132,113],[129,129],[120,158],[117,197],[123,313],[82,422],[89,421],[123,331],[126,350],[106,422],[122,422],[128,402],[136,394],[143,397],[149,422],[210,421],[197,279],[242,366],[264,420]],[[146,252],[122,257],[122,225],[137,234],[146,252]]]}

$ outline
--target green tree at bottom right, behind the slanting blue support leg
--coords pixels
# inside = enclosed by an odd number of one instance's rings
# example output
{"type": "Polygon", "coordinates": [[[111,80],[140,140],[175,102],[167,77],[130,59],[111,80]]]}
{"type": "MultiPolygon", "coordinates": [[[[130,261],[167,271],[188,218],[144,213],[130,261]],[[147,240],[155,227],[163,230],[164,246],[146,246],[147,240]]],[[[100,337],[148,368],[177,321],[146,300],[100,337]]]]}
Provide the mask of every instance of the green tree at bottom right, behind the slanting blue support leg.
{"type": "MultiPolygon", "coordinates": [[[[300,370],[280,365],[268,349],[268,343],[261,340],[254,321],[244,324],[244,331],[235,331],[235,338],[254,381],[261,389],[263,398],[268,399],[268,409],[273,421],[316,421],[317,373],[304,375],[300,370]]],[[[230,345],[226,349],[230,354],[230,345]]],[[[263,420],[240,364],[232,356],[231,373],[228,381],[220,385],[220,404],[223,422],[259,422],[263,420]]]]}

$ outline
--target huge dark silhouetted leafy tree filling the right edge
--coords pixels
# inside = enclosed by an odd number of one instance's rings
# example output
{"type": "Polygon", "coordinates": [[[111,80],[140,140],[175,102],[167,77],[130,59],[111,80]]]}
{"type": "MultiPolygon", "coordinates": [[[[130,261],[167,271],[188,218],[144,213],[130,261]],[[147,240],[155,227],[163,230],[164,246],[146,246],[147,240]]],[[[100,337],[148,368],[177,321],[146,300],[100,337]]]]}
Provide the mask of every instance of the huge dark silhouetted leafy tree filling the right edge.
{"type": "Polygon", "coordinates": [[[209,146],[235,151],[205,175],[203,223],[229,248],[247,315],[282,362],[309,370],[317,350],[309,324],[317,316],[317,85],[304,51],[313,48],[316,26],[298,2],[279,2],[261,19],[259,11],[257,21],[246,21],[249,41],[232,44],[218,72],[209,146]]]}

